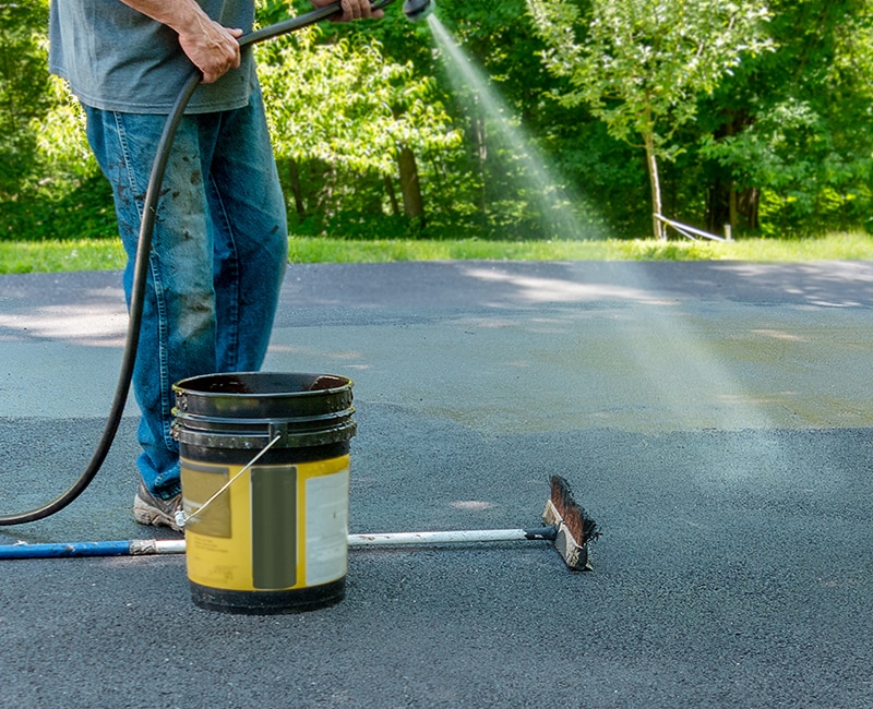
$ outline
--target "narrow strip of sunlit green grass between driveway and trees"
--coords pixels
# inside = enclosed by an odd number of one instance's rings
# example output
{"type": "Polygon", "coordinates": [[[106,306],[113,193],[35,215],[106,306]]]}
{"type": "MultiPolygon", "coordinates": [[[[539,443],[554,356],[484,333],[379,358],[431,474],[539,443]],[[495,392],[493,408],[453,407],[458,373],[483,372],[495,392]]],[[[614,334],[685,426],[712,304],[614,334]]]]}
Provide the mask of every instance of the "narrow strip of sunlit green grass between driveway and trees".
{"type": "MultiPolygon", "coordinates": [[[[816,239],[715,241],[357,241],[292,238],[294,263],[388,261],[873,261],[873,237],[833,233],[816,239]]],[[[0,241],[0,274],[107,271],[124,267],[117,239],[0,241]]]]}

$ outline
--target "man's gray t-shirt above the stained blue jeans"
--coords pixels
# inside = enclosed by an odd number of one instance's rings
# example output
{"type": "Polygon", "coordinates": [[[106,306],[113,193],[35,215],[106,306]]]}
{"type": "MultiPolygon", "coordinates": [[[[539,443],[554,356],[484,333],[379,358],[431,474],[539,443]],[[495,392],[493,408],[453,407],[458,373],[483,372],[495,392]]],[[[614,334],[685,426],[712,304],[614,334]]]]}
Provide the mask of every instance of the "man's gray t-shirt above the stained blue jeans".
{"type": "MultiPolygon", "coordinates": [[[[198,0],[226,27],[249,32],[253,0],[198,0]]],[[[51,0],[49,70],[86,106],[127,113],[168,113],[194,65],[178,35],[120,0],[51,0]]],[[[241,108],[256,82],[250,50],[239,69],[201,84],[187,113],[241,108]]]]}

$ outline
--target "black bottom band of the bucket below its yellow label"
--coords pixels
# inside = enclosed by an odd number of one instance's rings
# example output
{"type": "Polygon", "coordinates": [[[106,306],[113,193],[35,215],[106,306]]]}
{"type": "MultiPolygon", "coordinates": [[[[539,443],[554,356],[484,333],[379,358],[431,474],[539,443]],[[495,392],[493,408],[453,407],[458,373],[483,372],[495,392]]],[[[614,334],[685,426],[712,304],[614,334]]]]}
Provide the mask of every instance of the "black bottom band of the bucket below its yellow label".
{"type": "Polygon", "coordinates": [[[241,615],[306,613],[338,603],[346,597],[346,579],[287,591],[227,591],[191,584],[194,604],[207,611],[241,615]]]}

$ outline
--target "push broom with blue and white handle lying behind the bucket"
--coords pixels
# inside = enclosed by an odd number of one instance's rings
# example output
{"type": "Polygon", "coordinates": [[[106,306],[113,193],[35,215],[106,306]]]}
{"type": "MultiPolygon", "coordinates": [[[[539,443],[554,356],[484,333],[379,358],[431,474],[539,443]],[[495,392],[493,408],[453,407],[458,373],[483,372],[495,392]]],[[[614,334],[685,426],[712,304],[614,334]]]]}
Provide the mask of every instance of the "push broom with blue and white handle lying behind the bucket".
{"type": "MultiPolygon", "coordinates": [[[[438,546],[478,542],[550,541],[573,570],[591,570],[588,542],[600,537],[597,522],[576,503],[567,481],[550,479],[551,495],[542,512],[543,526],[533,529],[479,529],[349,534],[355,549],[378,546],[438,546]]],[[[0,545],[3,558],[59,558],[68,556],[145,556],[184,553],[183,539],[135,539],[129,541],[64,542],[0,545]]]]}

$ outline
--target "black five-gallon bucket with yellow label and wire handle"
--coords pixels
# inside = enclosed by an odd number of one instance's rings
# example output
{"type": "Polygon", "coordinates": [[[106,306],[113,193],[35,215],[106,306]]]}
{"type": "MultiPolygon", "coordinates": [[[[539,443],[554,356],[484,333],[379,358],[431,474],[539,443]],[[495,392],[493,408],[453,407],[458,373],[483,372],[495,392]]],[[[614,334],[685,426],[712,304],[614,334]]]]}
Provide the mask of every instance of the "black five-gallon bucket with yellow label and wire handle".
{"type": "Polygon", "coordinates": [[[294,613],[344,598],[351,386],[265,372],[174,386],[195,604],[294,613]]]}

